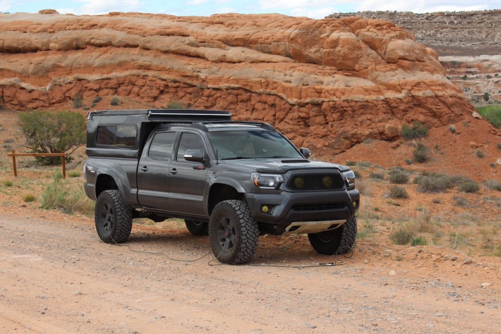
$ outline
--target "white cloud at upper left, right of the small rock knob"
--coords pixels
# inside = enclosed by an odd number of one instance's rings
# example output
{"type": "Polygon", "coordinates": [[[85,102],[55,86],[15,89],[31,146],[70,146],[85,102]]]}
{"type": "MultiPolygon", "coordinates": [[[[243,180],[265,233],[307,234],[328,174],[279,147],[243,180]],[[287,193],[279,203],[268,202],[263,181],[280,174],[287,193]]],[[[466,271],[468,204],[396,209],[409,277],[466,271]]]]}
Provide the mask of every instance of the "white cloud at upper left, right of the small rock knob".
{"type": "Polygon", "coordinates": [[[79,0],[84,5],[75,8],[56,9],[59,13],[76,15],[108,14],[109,12],[144,12],[144,3],[140,0],[79,0]]]}

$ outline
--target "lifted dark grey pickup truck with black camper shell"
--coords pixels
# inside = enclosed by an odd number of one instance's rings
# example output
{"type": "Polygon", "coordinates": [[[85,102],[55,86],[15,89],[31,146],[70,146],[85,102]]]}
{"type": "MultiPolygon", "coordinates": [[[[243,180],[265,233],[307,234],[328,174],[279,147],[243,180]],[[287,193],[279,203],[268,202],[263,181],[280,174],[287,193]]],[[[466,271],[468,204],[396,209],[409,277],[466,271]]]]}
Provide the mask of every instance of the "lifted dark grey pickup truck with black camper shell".
{"type": "Polygon", "coordinates": [[[108,110],[88,115],[87,196],[102,241],[132,219],[184,219],[222,263],[248,262],[260,235],[307,233],[322,254],[353,247],[360,205],[347,166],[309,160],[275,128],[227,111],[108,110]]]}

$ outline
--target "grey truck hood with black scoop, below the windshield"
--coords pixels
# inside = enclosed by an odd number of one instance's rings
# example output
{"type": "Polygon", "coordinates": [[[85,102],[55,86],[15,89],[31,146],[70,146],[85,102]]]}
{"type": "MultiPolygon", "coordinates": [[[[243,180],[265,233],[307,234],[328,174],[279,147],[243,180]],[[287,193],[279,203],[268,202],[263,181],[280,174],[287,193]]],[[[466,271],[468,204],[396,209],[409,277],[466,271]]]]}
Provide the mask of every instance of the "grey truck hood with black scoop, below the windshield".
{"type": "Polygon", "coordinates": [[[348,166],[335,163],[312,161],[308,159],[291,158],[252,158],[225,160],[224,163],[235,164],[240,168],[249,169],[258,173],[285,174],[293,170],[313,170],[313,169],[336,169],[340,172],[349,171],[348,166]]]}

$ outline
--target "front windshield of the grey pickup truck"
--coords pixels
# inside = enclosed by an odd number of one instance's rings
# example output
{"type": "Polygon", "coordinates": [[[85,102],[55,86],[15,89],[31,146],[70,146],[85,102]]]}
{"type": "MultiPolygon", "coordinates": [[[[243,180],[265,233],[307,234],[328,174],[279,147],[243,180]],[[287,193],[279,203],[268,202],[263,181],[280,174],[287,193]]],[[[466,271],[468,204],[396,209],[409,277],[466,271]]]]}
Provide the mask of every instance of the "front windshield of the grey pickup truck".
{"type": "Polygon", "coordinates": [[[208,133],[217,158],[303,158],[283,135],[274,131],[214,131],[208,133]]]}

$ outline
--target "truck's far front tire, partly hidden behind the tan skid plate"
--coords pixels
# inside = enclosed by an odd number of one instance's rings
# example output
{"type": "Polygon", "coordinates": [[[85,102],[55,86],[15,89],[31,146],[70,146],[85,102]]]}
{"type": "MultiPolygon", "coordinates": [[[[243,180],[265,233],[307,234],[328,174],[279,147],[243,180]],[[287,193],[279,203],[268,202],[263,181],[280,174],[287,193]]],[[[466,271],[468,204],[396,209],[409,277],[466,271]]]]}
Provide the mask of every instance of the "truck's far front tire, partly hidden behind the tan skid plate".
{"type": "Polygon", "coordinates": [[[357,217],[353,216],[343,226],[330,231],[309,233],[312,247],[320,254],[343,254],[350,251],[357,238],[357,217]],[[348,248],[349,247],[349,248],[348,248]]]}

